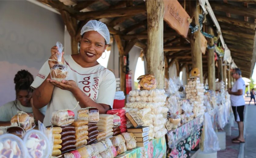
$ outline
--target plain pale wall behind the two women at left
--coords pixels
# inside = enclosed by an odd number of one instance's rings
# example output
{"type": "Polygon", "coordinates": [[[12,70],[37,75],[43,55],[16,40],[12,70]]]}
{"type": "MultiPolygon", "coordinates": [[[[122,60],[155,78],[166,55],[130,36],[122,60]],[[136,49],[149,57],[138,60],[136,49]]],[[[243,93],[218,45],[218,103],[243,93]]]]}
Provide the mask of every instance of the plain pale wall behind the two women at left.
{"type": "MultiPolygon", "coordinates": [[[[28,1],[0,1],[0,106],[16,98],[18,70],[38,73],[57,41],[64,43],[61,16],[28,1]]],[[[65,46],[64,46],[65,47],[65,46]]]]}

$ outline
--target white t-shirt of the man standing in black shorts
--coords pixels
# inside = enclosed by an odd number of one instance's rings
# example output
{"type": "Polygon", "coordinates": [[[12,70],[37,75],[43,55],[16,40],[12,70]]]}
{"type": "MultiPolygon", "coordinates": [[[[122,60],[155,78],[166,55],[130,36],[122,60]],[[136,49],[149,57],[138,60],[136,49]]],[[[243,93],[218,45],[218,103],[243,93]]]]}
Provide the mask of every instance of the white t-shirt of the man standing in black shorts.
{"type": "Polygon", "coordinates": [[[245,105],[244,101],[244,92],[245,92],[245,83],[242,77],[238,78],[236,82],[234,83],[232,87],[232,92],[237,92],[239,89],[243,90],[242,95],[230,95],[230,100],[231,100],[231,106],[242,106],[245,105]]]}

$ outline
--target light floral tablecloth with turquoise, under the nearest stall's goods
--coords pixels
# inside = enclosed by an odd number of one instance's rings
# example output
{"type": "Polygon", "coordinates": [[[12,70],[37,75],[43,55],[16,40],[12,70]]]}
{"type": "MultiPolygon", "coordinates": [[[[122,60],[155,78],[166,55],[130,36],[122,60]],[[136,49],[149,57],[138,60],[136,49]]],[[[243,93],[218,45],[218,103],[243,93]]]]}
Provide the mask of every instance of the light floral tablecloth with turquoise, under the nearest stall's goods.
{"type": "Polygon", "coordinates": [[[128,150],[116,158],[164,158],[166,157],[166,141],[165,137],[153,139],[144,147],[137,147],[128,150]]]}

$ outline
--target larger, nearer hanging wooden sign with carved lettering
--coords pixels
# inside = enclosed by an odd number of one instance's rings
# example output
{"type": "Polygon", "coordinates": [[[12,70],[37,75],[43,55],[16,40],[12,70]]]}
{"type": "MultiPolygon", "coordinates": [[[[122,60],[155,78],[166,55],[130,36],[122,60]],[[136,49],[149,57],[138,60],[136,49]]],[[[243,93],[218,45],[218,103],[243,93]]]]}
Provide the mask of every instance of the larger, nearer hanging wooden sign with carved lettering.
{"type": "Polygon", "coordinates": [[[190,16],[177,0],[165,0],[164,20],[184,38],[187,37],[190,16]]]}

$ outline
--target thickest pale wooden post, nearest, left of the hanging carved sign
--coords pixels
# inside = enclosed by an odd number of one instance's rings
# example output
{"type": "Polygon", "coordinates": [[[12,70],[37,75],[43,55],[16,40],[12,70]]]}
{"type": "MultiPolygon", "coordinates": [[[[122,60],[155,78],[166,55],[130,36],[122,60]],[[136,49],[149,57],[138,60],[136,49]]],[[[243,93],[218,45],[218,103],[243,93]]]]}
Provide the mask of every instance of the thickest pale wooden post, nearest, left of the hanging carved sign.
{"type": "Polygon", "coordinates": [[[148,47],[147,63],[148,73],[153,74],[157,80],[157,88],[164,88],[164,2],[162,0],[146,1],[148,14],[148,47]]]}

